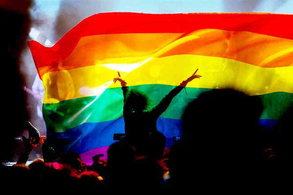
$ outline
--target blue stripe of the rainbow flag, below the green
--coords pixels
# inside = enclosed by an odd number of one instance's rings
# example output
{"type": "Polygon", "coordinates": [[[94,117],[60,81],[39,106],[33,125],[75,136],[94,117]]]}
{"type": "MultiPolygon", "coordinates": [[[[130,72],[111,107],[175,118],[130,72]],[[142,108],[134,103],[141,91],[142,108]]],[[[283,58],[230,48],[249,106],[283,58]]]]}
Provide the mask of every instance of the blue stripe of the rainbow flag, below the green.
{"type": "MultiPolygon", "coordinates": [[[[269,129],[276,124],[277,120],[261,119],[259,124],[269,129]]],[[[166,147],[173,144],[173,136],[182,134],[181,120],[169,119],[160,117],[157,120],[157,128],[167,137],[166,147]]],[[[99,123],[84,123],[74,127],[66,132],[56,133],[55,136],[60,139],[67,139],[69,144],[65,146],[66,151],[73,151],[82,154],[86,151],[110,146],[115,141],[113,134],[124,133],[124,118],[120,117],[116,120],[99,122],[99,123]]],[[[54,135],[47,135],[47,139],[54,135]]]]}

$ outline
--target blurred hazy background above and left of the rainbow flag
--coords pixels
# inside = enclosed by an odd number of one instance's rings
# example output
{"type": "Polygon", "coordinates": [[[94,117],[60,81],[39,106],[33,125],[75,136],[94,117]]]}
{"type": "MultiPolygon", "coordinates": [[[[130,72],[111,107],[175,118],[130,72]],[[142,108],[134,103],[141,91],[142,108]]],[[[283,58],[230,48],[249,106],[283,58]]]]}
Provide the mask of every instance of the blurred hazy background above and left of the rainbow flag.
{"type": "MultiPolygon", "coordinates": [[[[3,121],[13,125],[5,126],[3,131],[15,140],[11,146],[14,155],[10,159],[16,161],[23,150],[20,136],[27,134],[22,132],[23,121],[31,121],[41,135],[46,134],[42,119],[44,88],[27,40],[37,40],[50,47],[81,20],[101,12],[293,14],[292,8],[293,0],[0,0],[1,37],[4,42],[1,59],[4,59],[2,72],[5,73],[2,77],[2,97],[6,97],[2,106],[3,121]]],[[[4,144],[3,147],[7,148],[11,142],[6,139],[4,144]]],[[[29,160],[36,157],[42,157],[41,147],[33,150],[29,160]]]]}

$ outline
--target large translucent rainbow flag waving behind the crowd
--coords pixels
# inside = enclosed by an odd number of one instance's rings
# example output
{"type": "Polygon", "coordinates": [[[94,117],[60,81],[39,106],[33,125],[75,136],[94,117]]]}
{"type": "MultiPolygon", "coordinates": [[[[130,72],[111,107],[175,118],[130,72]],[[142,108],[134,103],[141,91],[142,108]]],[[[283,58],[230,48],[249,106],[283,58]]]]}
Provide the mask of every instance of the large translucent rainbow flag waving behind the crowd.
{"type": "Polygon", "coordinates": [[[293,15],[267,13],[101,13],[81,21],[52,47],[29,41],[45,87],[50,137],[89,156],[124,133],[123,94],[130,88],[156,105],[197,68],[202,78],[177,95],[157,121],[167,137],[181,134],[181,115],[202,92],[231,87],[259,96],[259,122],[272,127],[293,102],[293,15]]]}

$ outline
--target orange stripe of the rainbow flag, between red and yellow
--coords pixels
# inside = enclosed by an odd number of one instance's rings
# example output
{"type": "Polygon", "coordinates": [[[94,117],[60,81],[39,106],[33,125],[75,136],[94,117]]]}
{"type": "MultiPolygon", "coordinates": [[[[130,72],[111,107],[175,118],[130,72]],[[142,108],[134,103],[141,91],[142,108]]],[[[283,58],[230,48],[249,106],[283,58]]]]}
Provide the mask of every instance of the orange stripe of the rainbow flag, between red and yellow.
{"type": "Polygon", "coordinates": [[[148,57],[192,54],[235,59],[261,67],[290,66],[293,40],[251,32],[202,29],[182,33],[134,33],[95,35],[80,39],[73,52],[60,62],[39,68],[46,72],[69,70],[95,64],[133,63],[148,57]],[[253,56],[252,56],[253,55],[253,56]],[[126,59],[123,59],[126,58],[126,59]]]}

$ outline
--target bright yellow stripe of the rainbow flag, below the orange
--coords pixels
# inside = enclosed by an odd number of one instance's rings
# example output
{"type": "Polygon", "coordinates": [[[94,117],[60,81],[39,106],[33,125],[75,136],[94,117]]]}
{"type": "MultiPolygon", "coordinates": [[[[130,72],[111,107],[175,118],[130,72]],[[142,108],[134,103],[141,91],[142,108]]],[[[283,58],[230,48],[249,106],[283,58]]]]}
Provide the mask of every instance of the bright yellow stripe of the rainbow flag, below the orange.
{"type": "Polygon", "coordinates": [[[107,87],[120,87],[112,79],[118,76],[118,69],[129,66],[134,70],[121,74],[129,86],[178,85],[198,68],[202,78],[188,83],[188,87],[232,87],[250,95],[293,93],[293,66],[262,68],[232,59],[178,55],[149,58],[138,64],[103,64],[46,73],[43,76],[46,88],[44,103],[99,96],[107,87]]]}

